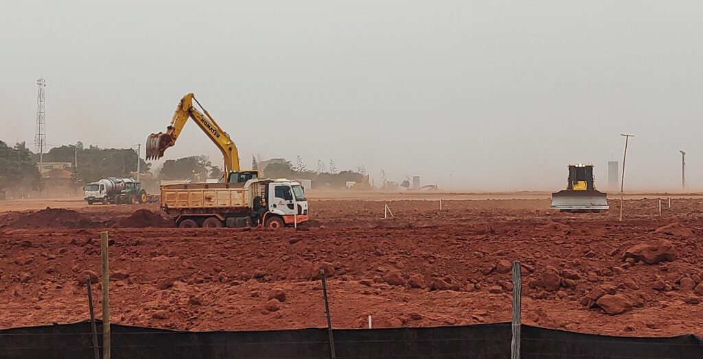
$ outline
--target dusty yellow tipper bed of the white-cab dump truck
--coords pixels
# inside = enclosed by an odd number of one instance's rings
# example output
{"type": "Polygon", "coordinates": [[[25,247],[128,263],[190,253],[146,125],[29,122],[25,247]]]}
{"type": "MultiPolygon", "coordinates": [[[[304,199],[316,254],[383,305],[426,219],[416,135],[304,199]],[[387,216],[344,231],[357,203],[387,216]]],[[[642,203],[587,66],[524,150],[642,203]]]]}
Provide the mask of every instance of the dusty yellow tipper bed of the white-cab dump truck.
{"type": "Polygon", "coordinates": [[[260,196],[257,185],[243,187],[232,184],[175,184],[161,187],[161,207],[250,208],[254,197],[260,196]]]}

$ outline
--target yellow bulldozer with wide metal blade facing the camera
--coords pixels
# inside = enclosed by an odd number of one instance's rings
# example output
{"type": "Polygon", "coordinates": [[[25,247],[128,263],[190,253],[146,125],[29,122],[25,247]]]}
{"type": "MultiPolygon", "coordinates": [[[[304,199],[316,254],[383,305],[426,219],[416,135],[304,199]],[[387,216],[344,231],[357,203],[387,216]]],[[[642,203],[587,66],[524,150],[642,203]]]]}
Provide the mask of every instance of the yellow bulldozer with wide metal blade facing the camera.
{"type": "Polygon", "coordinates": [[[569,165],[567,189],[552,194],[553,210],[600,212],[608,209],[606,194],[595,189],[593,165],[569,165]]]}

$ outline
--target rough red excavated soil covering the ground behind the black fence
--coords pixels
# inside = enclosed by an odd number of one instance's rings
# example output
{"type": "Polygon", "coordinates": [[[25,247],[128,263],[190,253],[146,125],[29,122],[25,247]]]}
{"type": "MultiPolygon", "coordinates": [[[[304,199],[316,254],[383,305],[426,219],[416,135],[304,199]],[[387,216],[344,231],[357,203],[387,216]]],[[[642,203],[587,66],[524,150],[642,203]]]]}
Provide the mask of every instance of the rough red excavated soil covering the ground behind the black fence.
{"type": "MultiPolygon", "coordinates": [[[[703,335],[703,201],[654,199],[602,214],[549,201],[311,201],[295,229],[170,226],[154,205],[0,215],[0,327],[88,318],[86,275],[110,246],[114,322],[179,330],[463,325],[510,320],[522,263],[524,323],[629,336],[703,335]],[[143,227],[145,228],[138,228],[143,227]],[[129,227],[129,228],[128,228],[129,227]]],[[[93,286],[101,316],[99,285],[93,286]]]]}

